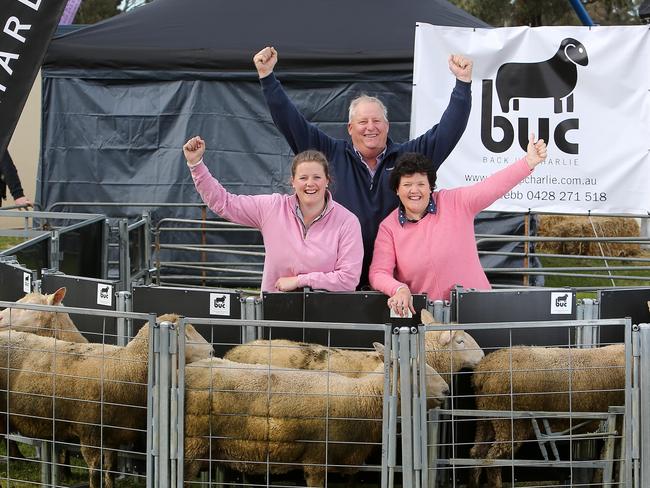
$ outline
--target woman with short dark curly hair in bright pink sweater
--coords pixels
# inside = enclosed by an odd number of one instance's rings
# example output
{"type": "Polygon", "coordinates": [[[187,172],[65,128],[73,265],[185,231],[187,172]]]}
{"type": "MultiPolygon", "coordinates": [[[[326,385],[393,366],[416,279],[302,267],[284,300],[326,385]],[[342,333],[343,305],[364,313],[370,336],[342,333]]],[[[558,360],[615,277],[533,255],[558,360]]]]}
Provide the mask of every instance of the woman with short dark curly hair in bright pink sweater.
{"type": "Polygon", "coordinates": [[[370,285],[390,298],[388,307],[415,313],[411,291],[447,300],[452,287],[489,290],[478,258],[474,217],[514,188],[546,158],[546,144],[531,134],[524,158],[471,186],[432,191],[436,173],[420,154],[404,154],[390,184],[400,204],[379,226],[370,285]]]}

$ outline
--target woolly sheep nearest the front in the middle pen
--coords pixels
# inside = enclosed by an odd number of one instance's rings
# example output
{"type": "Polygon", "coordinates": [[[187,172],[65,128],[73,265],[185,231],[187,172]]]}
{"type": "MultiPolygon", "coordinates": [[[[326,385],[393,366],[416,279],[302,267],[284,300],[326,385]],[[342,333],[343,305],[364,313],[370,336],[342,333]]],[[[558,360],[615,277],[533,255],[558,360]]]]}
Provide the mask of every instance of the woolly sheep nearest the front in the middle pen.
{"type": "MultiPolygon", "coordinates": [[[[383,356],[383,346],[375,343],[383,356]]],[[[354,473],[381,442],[384,364],[351,378],[333,372],[210,359],[185,370],[185,479],[210,459],[251,474],[302,469],[309,487],[354,473]]],[[[447,385],[428,368],[427,396],[447,385]]]]}

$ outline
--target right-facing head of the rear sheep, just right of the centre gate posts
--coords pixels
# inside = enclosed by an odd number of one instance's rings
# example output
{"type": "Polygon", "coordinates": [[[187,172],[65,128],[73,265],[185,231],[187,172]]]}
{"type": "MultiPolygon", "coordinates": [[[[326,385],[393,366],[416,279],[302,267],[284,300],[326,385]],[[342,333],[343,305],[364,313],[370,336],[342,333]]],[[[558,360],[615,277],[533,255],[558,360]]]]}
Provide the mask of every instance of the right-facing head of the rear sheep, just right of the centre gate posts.
{"type": "MultiPolygon", "coordinates": [[[[424,325],[439,325],[425,309],[420,312],[424,325]]],[[[432,330],[425,336],[427,363],[438,371],[447,373],[461,369],[474,369],[485,353],[474,338],[464,330],[432,330]],[[451,355],[451,357],[450,357],[451,355]]]]}

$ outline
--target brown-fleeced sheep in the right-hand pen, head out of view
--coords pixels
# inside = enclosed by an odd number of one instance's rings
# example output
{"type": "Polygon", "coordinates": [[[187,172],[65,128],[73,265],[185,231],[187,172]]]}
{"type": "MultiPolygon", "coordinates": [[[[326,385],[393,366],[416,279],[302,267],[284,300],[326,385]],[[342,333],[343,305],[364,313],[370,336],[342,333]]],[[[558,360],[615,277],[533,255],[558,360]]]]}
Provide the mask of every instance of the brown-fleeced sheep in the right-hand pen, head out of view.
{"type": "MultiPolygon", "coordinates": [[[[500,349],[478,364],[472,383],[481,410],[606,412],[625,403],[625,347],[500,349]]],[[[477,423],[472,458],[511,458],[524,441],[534,439],[529,419],[513,420],[511,432],[511,419],[504,417],[477,423]]],[[[551,423],[566,428],[568,422],[551,423]]],[[[501,487],[500,468],[488,469],[487,475],[490,487],[501,487]]],[[[480,476],[481,468],[474,468],[470,486],[478,487],[480,476]]]]}

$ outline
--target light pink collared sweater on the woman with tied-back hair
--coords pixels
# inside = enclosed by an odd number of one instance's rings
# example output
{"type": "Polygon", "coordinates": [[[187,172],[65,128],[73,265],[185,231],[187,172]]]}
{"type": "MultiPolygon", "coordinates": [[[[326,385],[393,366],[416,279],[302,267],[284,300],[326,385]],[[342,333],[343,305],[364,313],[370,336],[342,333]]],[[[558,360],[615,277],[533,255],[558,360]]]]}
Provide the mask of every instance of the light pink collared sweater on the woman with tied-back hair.
{"type": "Polygon", "coordinates": [[[357,217],[330,195],[325,215],[303,236],[295,195],[233,195],[200,163],[190,168],[203,202],[226,220],[262,232],[266,257],[262,291],[277,291],[278,278],[297,276],[300,287],[354,291],[363,244],[357,217]]]}

